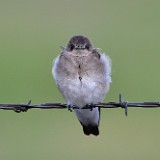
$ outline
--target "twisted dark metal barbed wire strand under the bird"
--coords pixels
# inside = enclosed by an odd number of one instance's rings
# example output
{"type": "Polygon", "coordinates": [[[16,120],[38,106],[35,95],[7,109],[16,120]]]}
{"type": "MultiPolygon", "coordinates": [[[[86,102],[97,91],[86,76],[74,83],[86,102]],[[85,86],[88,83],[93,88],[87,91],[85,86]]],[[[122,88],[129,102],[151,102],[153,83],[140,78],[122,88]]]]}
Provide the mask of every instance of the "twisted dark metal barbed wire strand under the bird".
{"type": "MultiPolygon", "coordinates": [[[[160,102],[131,102],[123,101],[122,95],[119,94],[119,102],[108,102],[108,103],[98,103],[89,104],[81,109],[93,109],[95,107],[99,108],[123,108],[125,115],[128,114],[128,108],[159,108],[160,102]]],[[[68,106],[63,103],[43,103],[43,104],[31,104],[31,100],[27,104],[0,104],[0,109],[2,110],[13,110],[17,113],[27,112],[29,109],[79,109],[77,106],[68,106]]]]}

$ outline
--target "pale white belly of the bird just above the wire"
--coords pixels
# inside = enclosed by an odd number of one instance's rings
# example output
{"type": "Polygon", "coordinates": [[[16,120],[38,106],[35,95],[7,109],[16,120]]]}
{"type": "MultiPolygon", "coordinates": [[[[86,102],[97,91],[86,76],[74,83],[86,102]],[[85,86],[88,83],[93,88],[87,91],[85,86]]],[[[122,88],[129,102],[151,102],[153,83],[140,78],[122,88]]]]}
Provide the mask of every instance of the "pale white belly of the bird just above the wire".
{"type": "Polygon", "coordinates": [[[78,78],[69,80],[65,86],[68,90],[65,99],[69,104],[78,107],[99,103],[106,94],[106,87],[100,80],[88,77],[83,77],[81,81],[78,78]]]}

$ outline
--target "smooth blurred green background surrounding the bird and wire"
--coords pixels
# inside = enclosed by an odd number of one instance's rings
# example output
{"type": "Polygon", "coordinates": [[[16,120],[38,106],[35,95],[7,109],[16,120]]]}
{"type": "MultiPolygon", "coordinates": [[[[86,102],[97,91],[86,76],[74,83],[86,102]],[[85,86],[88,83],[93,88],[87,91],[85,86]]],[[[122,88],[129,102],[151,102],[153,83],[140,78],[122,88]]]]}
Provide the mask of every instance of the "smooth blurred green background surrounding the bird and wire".
{"type": "MultiPolygon", "coordinates": [[[[160,1],[0,0],[0,103],[65,102],[52,61],[75,34],[112,59],[105,99],[160,101],[160,1]]],[[[86,137],[67,110],[0,111],[1,160],[159,160],[160,110],[103,109],[86,137]]]]}

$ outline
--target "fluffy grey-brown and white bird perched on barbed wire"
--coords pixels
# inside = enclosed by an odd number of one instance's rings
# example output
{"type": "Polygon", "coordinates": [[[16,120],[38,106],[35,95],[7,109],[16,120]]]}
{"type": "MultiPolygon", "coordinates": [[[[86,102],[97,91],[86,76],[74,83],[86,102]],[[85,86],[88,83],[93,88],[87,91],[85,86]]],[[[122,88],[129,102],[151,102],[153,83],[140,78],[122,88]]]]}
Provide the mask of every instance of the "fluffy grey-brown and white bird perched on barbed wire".
{"type": "Polygon", "coordinates": [[[72,108],[85,135],[99,135],[101,103],[111,83],[111,59],[94,48],[89,38],[75,35],[54,60],[52,74],[59,91],[72,108]],[[73,106],[76,106],[73,108],[73,106]],[[85,108],[91,106],[91,108],[85,108]]]}

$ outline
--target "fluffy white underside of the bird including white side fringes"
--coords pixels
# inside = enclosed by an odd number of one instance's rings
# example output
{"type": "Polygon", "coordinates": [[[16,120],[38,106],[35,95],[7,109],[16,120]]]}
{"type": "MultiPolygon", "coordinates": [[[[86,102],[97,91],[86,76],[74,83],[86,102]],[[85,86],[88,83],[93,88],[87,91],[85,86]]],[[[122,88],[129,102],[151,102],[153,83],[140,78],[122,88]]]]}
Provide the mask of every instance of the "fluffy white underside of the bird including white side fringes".
{"type": "MultiPolygon", "coordinates": [[[[111,65],[109,57],[105,54],[101,55],[100,61],[104,64],[101,77],[97,76],[99,73],[92,72],[84,74],[80,80],[78,73],[75,73],[74,78],[66,78],[65,73],[59,73],[57,67],[60,56],[55,59],[52,74],[68,104],[84,107],[86,104],[99,103],[104,99],[111,82],[111,65]]],[[[60,71],[63,72],[63,69],[60,71]]]]}

